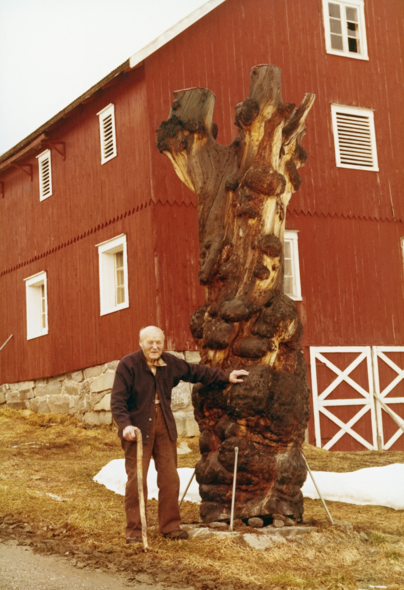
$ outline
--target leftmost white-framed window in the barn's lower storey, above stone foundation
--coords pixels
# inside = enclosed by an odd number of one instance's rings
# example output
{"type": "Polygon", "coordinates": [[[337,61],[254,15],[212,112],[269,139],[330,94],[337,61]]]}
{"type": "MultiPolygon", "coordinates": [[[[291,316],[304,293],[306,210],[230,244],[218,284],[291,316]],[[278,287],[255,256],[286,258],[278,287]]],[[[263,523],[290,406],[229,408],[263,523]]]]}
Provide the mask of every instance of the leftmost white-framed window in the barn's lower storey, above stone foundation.
{"type": "Polygon", "coordinates": [[[48,333],[47,273],[43,270],[24,278],[24,281],[27,302],[27,340],[31,340],[48,333]],[[44,312],[42,312],[42,285],[44,286],[44,312]],[[42,313],[45,314],[45,326],[42,326],[42,313]]]}

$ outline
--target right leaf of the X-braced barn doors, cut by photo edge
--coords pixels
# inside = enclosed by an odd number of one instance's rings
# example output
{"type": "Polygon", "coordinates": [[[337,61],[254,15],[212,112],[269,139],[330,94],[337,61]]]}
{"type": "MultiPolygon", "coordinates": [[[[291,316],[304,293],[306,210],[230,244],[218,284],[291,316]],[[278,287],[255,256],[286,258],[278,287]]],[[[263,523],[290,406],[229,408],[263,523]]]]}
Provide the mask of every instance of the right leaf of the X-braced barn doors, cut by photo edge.
{"type": "Polygon", "coordinates": [[[387,451],[404,432],[397,428],[377,397],[383,399],[383,404],[402,423],[402,418],[394,410],[403,408],[396,404],[404,404],[404,346],[372,346],[372,352],[379,448],[387,451]]]}

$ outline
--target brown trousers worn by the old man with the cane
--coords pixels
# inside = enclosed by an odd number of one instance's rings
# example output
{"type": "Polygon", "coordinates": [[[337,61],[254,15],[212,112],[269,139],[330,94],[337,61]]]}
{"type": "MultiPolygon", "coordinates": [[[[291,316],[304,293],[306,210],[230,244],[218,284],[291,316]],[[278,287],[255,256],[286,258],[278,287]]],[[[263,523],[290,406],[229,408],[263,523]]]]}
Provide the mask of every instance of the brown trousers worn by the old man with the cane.
{"type": "MultiPolygon", "coordinates": [[[[137,491],[137,442],[121,441],[125,453],[127,483],[125,490],[126,536],[142,535],[140,522],[139,493],[137,491]]],[[[170,440],[165,418],[160,404],[156,404],[150,442],[143,445],[143,493],[147,506],[147,471],[153,457],[157,471],[159,488],[159,532],[165,535],[179,529],[178,509],[179,477],[177,472],[177,445],[170,440]]]]}

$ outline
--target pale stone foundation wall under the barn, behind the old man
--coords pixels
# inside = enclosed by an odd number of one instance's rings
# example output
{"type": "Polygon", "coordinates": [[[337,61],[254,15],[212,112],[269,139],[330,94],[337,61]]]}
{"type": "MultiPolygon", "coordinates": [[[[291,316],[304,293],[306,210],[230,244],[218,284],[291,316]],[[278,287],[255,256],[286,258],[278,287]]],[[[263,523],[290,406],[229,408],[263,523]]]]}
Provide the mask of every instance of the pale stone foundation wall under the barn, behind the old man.
{"type": "MultiPolygon", "coordinates": [[[[199,352],[185,350],[173,355],[191,363],[199,363],[199,352]]],[[[32,409],[34,412],[73,414],[91,425],[111,424],[111,389],[117,360],[57,375],[48,379],[35,379],[0,386],[0,408],[32,409]]],[[[191,385],[181,381],[172,392],[171,408],[179,437],[199,434],[193,417],[191,385]]]]}

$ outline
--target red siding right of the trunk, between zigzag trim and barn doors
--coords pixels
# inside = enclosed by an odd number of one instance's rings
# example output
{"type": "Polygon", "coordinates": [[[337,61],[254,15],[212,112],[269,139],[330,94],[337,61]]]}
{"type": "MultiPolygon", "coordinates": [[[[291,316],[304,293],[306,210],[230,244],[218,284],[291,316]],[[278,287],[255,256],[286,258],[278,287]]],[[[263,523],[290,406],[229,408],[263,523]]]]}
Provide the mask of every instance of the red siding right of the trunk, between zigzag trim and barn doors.
{"type": "Polygon", "coordinates": [[[404,343],[404,223],[288,214],[298,248],[305,346],[404,343]]]}

